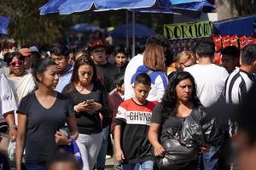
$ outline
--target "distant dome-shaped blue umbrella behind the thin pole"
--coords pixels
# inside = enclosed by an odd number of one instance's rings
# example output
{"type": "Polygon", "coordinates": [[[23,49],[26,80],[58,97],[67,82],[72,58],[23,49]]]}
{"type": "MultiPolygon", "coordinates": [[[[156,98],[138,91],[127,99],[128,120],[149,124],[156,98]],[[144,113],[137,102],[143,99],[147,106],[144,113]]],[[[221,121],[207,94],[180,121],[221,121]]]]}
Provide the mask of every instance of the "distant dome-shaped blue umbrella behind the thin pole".
{"type": "MultiPolygon", "coordinates": [[[[128,29],[128,37],[132,37],[132,24],[125,24],[122,26],[118,26],[113,31],[109,31],[108,35],[115,38],[125,38],[126,37],[126,29],[128,29]]],[[[155,32],[152,31],[148,26],[142,24],[135,24],[135,37],[136,38],[145,38],[149,36],[155,35],[155,32]]]]}

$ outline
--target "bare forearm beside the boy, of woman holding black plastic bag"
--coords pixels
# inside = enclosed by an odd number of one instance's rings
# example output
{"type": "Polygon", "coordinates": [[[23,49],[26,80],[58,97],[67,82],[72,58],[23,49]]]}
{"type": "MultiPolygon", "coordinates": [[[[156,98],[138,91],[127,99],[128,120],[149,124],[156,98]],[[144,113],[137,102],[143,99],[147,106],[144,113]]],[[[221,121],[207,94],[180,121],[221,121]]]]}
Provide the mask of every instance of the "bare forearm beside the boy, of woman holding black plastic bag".
{"type": "Polygon", "coordinates": [[[148,130],[148,140],[150,144],[152,144],[154,147],[154,156],[163,156],[165,152],[163,146],[158,141],[158,137],[160,133],[159,131],[160,131],[160,124],[150,123],[150,127],[148,130]]]}

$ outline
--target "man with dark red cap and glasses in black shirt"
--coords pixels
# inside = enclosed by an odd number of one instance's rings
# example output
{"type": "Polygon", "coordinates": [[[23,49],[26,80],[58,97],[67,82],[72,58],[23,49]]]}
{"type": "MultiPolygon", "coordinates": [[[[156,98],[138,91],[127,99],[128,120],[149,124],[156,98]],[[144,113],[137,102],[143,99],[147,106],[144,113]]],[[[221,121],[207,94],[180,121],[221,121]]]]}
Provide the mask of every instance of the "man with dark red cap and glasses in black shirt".
{"type": "Polygon", "coordinates": [[[117,73],[114,66],[108,62],[106,45],[101,40],[95,41],[90,46],[90,54],[96,64],[97,74],[103,85],[110,93],[114,87],[113,76],[117,73]]]}

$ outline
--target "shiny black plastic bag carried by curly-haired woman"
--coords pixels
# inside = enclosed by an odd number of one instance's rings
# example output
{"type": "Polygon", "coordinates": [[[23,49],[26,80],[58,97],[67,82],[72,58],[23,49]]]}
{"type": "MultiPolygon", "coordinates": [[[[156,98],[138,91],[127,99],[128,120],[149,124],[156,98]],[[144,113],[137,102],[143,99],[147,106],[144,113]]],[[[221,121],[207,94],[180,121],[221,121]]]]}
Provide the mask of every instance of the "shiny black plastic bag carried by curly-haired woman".
{"type": "Polygon", "coordinates": [[[223,132],[216,119],[208,117],[205,108],[199,107],[184,119],[181,127],[166,129],[164,136],[160,143],[165,156],[156,157],[155,161],[161,170],[176,170],[195,161],[202,145],[220,144],[223,132]]]}

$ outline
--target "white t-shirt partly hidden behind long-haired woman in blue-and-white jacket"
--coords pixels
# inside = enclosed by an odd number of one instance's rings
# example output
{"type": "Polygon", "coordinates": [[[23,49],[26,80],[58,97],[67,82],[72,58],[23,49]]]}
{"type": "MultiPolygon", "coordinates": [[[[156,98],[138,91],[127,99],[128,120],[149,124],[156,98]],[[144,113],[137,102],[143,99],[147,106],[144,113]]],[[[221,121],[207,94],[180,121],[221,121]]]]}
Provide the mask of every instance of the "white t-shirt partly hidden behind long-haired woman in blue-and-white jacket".
{"type": "Polygon", "coordinates": [[[135,74],[140,65],[143,65],[143,54],[137,54],[134,56],[125,69],[125,100],[131,99],[134,96],[131,77],[135,74]]]}

